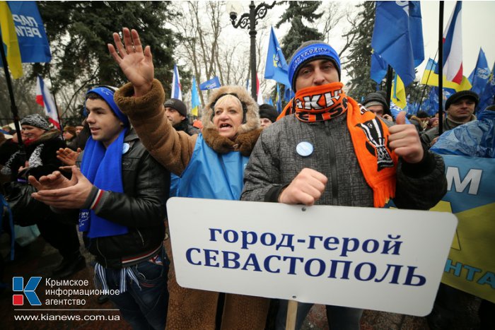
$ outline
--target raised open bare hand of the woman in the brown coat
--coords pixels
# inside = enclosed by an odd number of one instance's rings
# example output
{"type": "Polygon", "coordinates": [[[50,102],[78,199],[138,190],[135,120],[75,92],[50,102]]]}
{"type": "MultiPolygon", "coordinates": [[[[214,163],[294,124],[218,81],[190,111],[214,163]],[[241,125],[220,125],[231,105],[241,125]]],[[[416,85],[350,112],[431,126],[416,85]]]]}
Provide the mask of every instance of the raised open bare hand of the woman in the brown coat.
{"type": "Polygon", "coordinates": [[[123,43],[118,33],[113,34],[115,47],[108,44],[108,50],[134,86],[134,95],[145,95],[151,90],[154,77],[151,49],[146,46],[143,51],[139,34],[134,29],[123,28],[122,35],[124,36],[123,43]]]}

